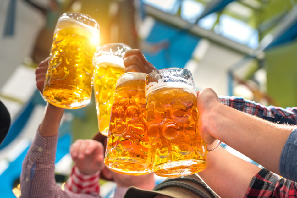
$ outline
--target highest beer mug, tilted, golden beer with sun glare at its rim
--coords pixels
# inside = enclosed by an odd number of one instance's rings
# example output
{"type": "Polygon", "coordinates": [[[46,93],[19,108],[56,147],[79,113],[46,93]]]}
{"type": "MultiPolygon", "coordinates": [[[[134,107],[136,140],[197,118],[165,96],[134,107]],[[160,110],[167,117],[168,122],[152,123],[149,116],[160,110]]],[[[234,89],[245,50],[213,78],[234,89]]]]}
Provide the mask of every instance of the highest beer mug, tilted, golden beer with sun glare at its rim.
{"type": "Polygon", "coordinates": [[[95,19],[86,14],[64,13],[60,16],[43,89],[43,96],[49,103],[78,109],[90,102],[99,29],[95,19]]]}

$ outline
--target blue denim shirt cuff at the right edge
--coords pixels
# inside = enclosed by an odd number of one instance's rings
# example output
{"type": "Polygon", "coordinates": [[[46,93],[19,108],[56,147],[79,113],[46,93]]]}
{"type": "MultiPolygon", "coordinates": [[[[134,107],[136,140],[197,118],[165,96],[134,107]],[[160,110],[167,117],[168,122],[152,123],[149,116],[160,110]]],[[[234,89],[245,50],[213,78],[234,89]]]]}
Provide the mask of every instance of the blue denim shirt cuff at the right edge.
{"type": "Polygon", "coordinates": [[[279,172],[284,178],[297,181],[297,128],[289,135],[279,160],[279,172]]]}

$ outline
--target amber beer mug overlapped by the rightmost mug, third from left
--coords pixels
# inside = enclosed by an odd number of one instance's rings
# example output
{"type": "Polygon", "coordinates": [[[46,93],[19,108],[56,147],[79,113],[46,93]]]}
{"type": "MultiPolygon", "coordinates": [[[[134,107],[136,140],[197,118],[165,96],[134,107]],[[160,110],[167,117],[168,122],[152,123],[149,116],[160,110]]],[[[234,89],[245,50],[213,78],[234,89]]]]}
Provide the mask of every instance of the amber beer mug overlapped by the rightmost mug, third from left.
{"type": "Polygon", "coordinates": [[[118,78],[110,117],[105,166],[117,173],[152,172],[146,125],[145,73],[129,72],[118,78]]]}

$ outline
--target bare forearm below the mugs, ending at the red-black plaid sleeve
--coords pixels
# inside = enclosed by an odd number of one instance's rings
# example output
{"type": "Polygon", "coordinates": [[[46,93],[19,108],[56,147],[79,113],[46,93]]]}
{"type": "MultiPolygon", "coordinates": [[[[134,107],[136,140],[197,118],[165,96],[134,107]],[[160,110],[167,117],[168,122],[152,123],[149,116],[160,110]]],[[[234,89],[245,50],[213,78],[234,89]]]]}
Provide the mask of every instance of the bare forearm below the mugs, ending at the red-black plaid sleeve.
{"type": "Polygon", "coordinates": [[[207,166],[198,174],[220,197],[238,198],[244,197],[259,171],[259,167],[218,147],[207,154],[207,166]]]}

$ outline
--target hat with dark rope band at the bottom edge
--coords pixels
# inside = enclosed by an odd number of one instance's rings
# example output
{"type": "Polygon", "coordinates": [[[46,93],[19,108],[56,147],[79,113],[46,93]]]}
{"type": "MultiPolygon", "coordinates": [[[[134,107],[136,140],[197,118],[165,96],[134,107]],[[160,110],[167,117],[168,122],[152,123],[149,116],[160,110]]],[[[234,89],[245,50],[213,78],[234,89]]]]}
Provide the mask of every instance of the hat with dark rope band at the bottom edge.
{"type": "Polygon", "coordinates": [[[153,190],[130,187],[124,198],[153,198],[156,195],[166,195],[172,198],[218,198],[201,178],[195,174],[166,179],[155,186],[153,190]]]}

